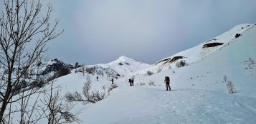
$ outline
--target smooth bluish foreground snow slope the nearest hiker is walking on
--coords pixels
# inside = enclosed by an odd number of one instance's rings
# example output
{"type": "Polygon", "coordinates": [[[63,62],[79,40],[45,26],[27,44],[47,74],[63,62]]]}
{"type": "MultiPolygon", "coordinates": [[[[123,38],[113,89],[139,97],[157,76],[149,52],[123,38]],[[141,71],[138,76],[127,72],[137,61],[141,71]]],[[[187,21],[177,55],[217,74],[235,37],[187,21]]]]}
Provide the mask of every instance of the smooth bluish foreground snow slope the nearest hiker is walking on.
{"type": "Polygon", "coordinates": [[[120,88],[108,98],[77,110],[83,123],[255,123],[256,27],[189,66],[152,76],[136,76],[136,86],[120,88]],[[250,64],[251,63],[251,64],[250,64]],[[227,93],[223,76],[237,93],[227,93]],[[165,91],[164,76],[172,91],[165,91]],[[148,86],[149,81],[156,86],[148,86]],[[146,83],[140,86],[139,83],[146,83]],[[100,118],[99,118],[100,117],[100,118]]]}

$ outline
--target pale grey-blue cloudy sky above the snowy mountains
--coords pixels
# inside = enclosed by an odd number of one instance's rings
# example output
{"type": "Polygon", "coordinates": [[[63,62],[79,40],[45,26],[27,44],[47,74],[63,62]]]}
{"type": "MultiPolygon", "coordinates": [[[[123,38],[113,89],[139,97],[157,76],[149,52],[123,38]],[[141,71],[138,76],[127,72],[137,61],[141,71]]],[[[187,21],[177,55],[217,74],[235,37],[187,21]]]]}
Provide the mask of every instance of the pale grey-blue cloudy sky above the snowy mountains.
{"type": "MultiPolygon", "coordinates": [[[[55,0],[60,37],[51,58],[108,63],[128,56],[155,63],[219,36],[237,24],[256,23],[256,0],[55,0]]],[[[53,19],[54,19],[53,18],[53,19]]]]}

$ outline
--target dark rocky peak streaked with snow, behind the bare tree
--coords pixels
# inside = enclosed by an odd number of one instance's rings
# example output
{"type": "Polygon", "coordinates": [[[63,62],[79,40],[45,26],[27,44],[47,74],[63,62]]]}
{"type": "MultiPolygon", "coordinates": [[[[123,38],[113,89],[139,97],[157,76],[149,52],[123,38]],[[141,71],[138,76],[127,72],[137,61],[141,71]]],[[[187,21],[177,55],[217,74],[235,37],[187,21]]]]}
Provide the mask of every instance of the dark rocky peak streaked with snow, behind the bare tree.
{"type": "Polygon", "coordinates": [[[70,64],[63,63],[62,61],[58,60],[57,58],[55,58],[51,61],[53,63],[50,65],[47,65],[45,70],[41,73],[42,75],[45,75],[45,74],[51,73],[51,72],[55,72],[55,71],[59,71],[63,68],[68,68],[70,70],[72,70],[74,68],[74,66],[72,66],[70,64]]]}

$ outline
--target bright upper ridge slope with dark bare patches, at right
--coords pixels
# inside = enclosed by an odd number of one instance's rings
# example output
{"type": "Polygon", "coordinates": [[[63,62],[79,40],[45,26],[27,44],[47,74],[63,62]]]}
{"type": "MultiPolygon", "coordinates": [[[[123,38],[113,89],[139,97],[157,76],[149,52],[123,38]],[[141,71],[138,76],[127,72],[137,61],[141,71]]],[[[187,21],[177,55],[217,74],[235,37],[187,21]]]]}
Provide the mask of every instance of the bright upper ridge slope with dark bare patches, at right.
{"type": "MultiPolygon", "coordinates": [[[[196,61],[202,60],[206,56],[209,56],[211,53],[218,51],[219,49],[229,45],[229,43],[234,42],[237,38],[240,37],[242,33],[251,29],[254,24],[240,24],[234,26],[234,28],[229,31],[222,33],[222,35],[212,38],[209,41],[200,43],[198,46],[189,48],[185,51],[174,54],[173,56],[163,58],[161,61],[156,62],[154,65],[145,68],[136,73],[145,74],[147,71],[153,73],[158,73],[160,71],[165,71],[170,68],[176,68],[176,63],[184,60],[187,64],[194,63],[196,61]]],[[[241,35],[243,36],[243,35],[241,35]]]]}

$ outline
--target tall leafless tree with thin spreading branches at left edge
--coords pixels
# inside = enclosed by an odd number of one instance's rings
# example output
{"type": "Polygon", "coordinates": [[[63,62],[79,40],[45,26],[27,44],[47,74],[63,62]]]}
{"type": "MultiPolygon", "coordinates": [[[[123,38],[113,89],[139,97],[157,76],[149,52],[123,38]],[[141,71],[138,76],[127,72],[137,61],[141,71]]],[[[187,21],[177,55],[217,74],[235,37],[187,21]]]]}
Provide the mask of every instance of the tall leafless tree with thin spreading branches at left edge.
{"type": "MultiPolygon", "coordinates": [[[[7,106],[11,108],[11,103],[29,100],[32,94],[38,93],[39,88],[33,88],[16,95],[27,73],[37,71],[36,65],[47,50],[46,44],[62,33],[56,31],[59,20],[50,22],[52,11],[52,5],[48,4],[46,13],[42,14],[40,0],[4,0],[4,10],[0,14],[0,66],[5,72],[0,74],[0,123],[9,123],[14,114],[10,109],[9,115],[4,115],[7,106]]],[[[32,80],[26,81],[32,83],[32,80]]],[[[22,104],[26,106],[27,103],[22,104]]],[[[21,119],[20,123],[23,121],[21,119]]]]}

